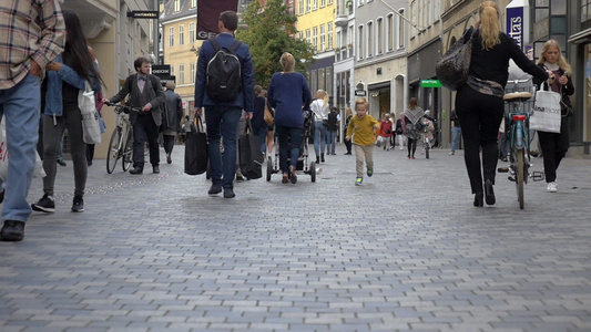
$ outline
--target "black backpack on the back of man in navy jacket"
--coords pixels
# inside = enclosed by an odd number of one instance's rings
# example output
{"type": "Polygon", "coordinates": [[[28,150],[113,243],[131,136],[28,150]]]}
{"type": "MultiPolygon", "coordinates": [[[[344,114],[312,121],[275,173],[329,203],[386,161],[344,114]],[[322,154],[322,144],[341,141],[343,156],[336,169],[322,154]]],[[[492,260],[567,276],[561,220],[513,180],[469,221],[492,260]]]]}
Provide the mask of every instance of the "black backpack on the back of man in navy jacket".
{"type": "Polygon", "coordinates": [[[241,61],[234,53],[242,42],[235,41],[230,49],[220,46],[216,39],[210,42],[215,54],[207,63],[207,95],[217,102],[232,102],[242,90],[241,61]]]}

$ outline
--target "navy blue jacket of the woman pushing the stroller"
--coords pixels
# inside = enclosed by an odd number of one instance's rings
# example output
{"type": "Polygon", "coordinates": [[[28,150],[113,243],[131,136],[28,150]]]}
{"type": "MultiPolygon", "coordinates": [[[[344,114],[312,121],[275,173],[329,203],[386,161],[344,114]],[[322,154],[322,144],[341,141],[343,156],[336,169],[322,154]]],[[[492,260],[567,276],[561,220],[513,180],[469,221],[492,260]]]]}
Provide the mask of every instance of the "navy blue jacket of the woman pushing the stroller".
{"type": "Polygon", "coordinates": [[[309,110],[312,93],[300,73],[275,73],[267,90],[268,104],[275,108],[275,125],[304,127],[302,110],[309,110]]]}

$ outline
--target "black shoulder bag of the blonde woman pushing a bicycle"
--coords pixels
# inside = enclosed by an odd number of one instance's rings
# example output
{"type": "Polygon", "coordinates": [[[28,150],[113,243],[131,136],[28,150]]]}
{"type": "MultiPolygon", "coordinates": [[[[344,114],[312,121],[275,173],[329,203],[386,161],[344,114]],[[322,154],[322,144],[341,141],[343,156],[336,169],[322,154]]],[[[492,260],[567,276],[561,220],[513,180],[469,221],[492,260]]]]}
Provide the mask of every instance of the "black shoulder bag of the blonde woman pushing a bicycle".
{"type": "Polygon", "coordinates": [[[437,79],[449,90],[456,91],[468,81],[475,32],[472,28],[470,34],[467,32],[435,64],[437,79]]]}

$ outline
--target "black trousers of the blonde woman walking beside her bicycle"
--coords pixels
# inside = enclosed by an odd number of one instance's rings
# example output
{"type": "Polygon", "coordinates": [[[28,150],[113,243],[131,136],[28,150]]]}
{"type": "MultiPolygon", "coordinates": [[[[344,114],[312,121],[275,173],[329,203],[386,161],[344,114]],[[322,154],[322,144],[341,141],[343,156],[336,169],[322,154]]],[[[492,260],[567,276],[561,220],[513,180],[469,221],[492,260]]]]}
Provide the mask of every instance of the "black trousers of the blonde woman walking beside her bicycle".
{"type": "Polygon", "coordinates": [[[499,146],[497,137],[505,115],[501,97],[479,93],[463,85],[456,94],[456,114],[461,124],[463,160],[472,194],[483,193],[483,180],[495,184],[499,146]],[[482,163],[480,163],[480,151],[482,163]]]}

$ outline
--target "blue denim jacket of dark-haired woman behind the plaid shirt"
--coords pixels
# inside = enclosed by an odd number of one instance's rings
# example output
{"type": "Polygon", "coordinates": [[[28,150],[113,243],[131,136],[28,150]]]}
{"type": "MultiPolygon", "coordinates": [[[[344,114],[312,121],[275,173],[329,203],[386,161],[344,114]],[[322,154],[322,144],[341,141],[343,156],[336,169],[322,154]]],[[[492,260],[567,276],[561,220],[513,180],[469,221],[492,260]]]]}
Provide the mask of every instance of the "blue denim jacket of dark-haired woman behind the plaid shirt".
{"type": "MultiPolygon", "coordinates": [[[[78,75],[78,73],[70,66],[63,64],[62,55],[59,55],[53,62],[62,64],[60,71],[48,72],[48,91],[45,93],[45,108],[43,113],[45,115],[62,116],[63,115],[63,101],[62,101],[62,84],[68,84],[78,87],[78,90],[84,90],[84,77],[78,75]]],[[[101,91],[101,82],[91,74],[90,84],[94,93],[101,91]]]]}

